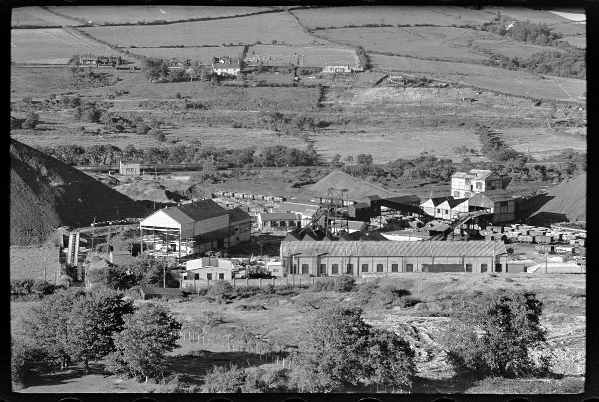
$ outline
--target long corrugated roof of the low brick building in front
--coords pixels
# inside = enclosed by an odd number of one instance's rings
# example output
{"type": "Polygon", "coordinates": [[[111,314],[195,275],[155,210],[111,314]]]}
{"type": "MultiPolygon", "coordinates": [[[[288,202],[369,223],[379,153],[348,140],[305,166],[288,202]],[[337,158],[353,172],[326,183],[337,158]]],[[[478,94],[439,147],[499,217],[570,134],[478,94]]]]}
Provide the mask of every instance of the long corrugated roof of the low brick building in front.
{"type": "Polygon", "coordinates": [[[315,257],[325,252],[330,255],[361,257],[490,257],[507,254],[504,243],[486,240],[470,242],[282,242],[281,251],[283,257],[289,257],[290,254],[315,257]]]}

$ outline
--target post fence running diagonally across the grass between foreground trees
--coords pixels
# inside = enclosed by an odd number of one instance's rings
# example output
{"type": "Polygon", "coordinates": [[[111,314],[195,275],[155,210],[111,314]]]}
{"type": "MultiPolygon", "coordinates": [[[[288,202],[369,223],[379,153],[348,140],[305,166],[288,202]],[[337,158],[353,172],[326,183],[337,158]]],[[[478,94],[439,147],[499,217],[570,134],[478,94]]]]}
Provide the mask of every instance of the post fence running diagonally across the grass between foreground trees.
{"type": "Polygon", "coordinates": [[[245,353],[247,355],[252,355],[256,360],[270,361],[270,363],[276,364],[277,366],[291,367],[292,365],[289,356],[281,356],[274,354],[273,352],[263,351],[256,345],[250,345],[249,343],[235,342],[211,334],[202,334],[195,331],[184,330],[179,331],[179,338],[199,345],[212,346],[213,348],[221,349],[226,352],[245,353]]]}

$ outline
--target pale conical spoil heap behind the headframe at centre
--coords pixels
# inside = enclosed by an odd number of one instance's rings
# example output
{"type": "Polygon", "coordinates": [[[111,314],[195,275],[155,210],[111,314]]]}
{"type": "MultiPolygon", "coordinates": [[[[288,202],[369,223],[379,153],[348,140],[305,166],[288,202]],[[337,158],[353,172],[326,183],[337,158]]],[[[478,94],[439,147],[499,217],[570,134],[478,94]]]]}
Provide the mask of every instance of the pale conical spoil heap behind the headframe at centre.
{"type": "Polygon", "coordinates": [[[394,193],[374,184],[348,175],[341,170],[333,170],[331,173],[308,187],[305,195],[326,197],[326,191],[329,188],[343,190],[347,188],[347,197],[349,200],[361,201],[366,196],[380,196],[381,198],[397,197],[404,194],[394,193]]]}

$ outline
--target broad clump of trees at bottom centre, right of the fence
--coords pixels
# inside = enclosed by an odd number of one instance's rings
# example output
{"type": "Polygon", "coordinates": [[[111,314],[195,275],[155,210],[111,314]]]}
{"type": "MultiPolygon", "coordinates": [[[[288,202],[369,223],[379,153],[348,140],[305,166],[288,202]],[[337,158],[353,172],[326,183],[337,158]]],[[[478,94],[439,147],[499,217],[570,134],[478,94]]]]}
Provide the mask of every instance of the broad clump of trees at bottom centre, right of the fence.
{"type": "Polygon", "coordinates": [[[358,307],[316,310],[292,356],[288,387],[296,392],[333,392],[344,385],[410,386],[414,352],[396,334],[366,324],[358,307]]]}

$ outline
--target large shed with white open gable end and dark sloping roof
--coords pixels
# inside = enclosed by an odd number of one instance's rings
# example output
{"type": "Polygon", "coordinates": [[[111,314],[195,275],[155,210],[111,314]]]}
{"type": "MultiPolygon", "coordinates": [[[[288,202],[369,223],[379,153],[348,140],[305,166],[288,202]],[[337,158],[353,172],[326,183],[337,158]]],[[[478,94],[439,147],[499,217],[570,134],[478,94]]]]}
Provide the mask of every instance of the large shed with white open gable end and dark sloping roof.
{"type": "Polygon", "coordinates": [[[181,257],[181,239],[193,240],[193,252],[229,248],[250,239],[251,217],[240,208],[225,209],[213,200],[201,200],[162,208],[140,221],[144,235],[165,233],[177,240],[181,257]]]}

